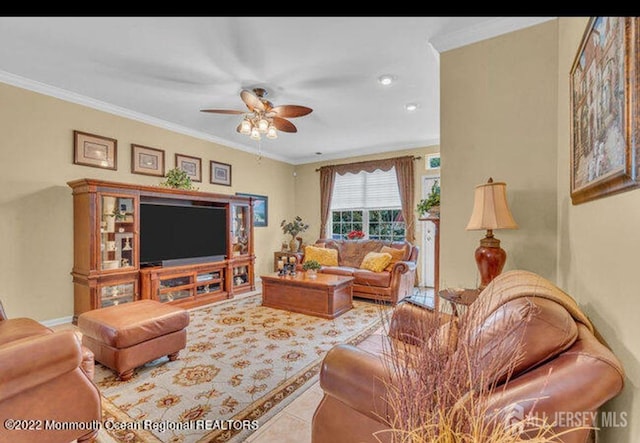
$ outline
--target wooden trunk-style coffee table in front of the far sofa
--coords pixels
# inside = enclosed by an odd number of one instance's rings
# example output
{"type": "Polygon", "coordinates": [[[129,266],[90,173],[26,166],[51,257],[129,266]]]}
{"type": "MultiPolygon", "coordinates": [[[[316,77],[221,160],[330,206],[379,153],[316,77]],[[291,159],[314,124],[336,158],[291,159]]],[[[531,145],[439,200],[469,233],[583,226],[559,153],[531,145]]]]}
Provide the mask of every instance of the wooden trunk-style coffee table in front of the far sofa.
{"type": "Polygon", "coordinates": [[[353,308],[353,277],[305,272],[295,276],[260,276],[262,305],[323,318],[336,318],[353,308]]]}

